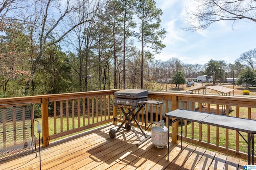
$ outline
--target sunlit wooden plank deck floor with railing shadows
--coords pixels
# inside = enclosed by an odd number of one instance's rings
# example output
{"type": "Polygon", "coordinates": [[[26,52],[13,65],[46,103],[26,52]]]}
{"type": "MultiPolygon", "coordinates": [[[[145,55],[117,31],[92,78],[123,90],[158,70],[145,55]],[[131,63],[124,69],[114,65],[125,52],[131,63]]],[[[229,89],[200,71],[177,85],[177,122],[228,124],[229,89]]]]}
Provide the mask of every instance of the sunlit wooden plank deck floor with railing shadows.
{"type": "MultiPolygon", "coordinates": [[[[247,163],[206,149],[184,143],[170,144],[169,162],[167,147],[156,148],[151,140],[136,147],[138,139],[132,131],[108,135],[114,125],[101,127],[50,143],[41,149],[42,170],[99,169],[99,170],[243,170],[247,163]]],[[[150,133],[149,133],[150,134],[150,133]]],[[[0,162],[0,170],[40,169],[39,153],[20,156],[0,162]]]]}

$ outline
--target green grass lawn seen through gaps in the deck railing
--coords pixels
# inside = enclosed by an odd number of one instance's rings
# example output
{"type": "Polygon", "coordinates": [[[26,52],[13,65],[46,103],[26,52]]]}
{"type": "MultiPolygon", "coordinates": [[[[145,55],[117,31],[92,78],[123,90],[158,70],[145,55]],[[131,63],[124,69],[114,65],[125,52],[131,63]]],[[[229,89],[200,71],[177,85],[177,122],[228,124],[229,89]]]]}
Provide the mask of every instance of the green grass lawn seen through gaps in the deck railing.
{"type": "MultiPolygon", "coordinates": [[[[236,107],[233,107],[233,109],[234,110],[230,112],[230,116],[236,116],[236,107]]],[[[248,108],[240,107],[239,111],[240,111],[240,117],[244,117],[244,118],[248,117],[248,108]]],[[[256,113],[255,108],[252,108],[252,115],[254,115],[253,113],[256,113]]],[[[112,115],[111,115],[110,118],[112,118],[112,115]]],[[[41,135],[42,135],[42,119],[41,118],[36,118],[36,120],[38,120],[40,125],[41,125],[41,135]]],[[[102,117],[102,120],[104,120],[104,116],[102,117]]],[[[49,117],[48,121],[49,121],[49,135],[53,135],[54,134],[54,117],[49,117]]],[[[100,117],[98,118],[98,121],[101,121],[100,117]]],[[[96,116],[95,116],[94,117],[94,123],[96,123],[96,122],[97,122],[97,119],[96,119],[96,116]]],[[[90,124],[92,124],[92,123],[93,123],[92,118],[90,118],[90,124]]],[[[66,131],[67,130],[66,115],[63,116],[63,123],[62,124],[63,124],[63,131],[66,131]]],[[[57,117],[56,118],[56,133],[61,132],[60,125],[61,125],[60,117],[57,117]]],[[[87,117],[85,117],[85,125],[88,125],[87,117]]],[[[8,126],[13,126],[13,125],[12,125],[12,123],[8,123],[8,126]]],[[[80,127],[82,127],[82,126],[83,126],[83,117],[80,116],[80,127]]],[[[197,139],[197,140],[199,140],[199,126],[200,126],[199,123],[194,123],[194,139],[197,139]]],[[[37,122],[36,121],[34,123],[34,127],[35,127],[34,128],[34,133],[36,135],[36,138],[38,138],[37,122]]],[[[73,129],[72,115],[69,115],[68,127],[69,127],[69,130],[73,129]]],[[[78,117],[77,116],[74,118],[74,128],[78,128],[78,117]]],[[[207,129],[208,129],[207,125],[202,125],[202,141],[204,141],[204,142],[207,142],[207,139],[208,139],[208,137],[207,137],[208,130],[207,129]]],[[[216,129],[217,129],[216,127],[210,126],[210,143],[212,143],[212,144],[216,144],[216,129]]],[[[90,130],[90,129],[86,129],[84,131],[88,131],[88,130],[90,130]]],[[[184,130],[185,130],[185,127],[183,126],[183,132],[184,132],[184,130]]],[[[72,136],[74,134],[78,134],[78,133],[81,133],[81,132],[84,132],[84,131],[73,133],[73,134],[67,135],[67,136],[72,136]]],[[[181,133],[180,128],[179,128],[179,133],[181,133]]],[[[192,123],[188,122],[187,134],[188,134],[188,137],[190,137],[190,138],[192,137],[191,133],[192,133],[192,123]]],[[[241,134],[247,139],[247,134],[246,133],[241,133],[241,134]]],[[[184,133],[183,133],[183,135],[184,135],[184,133]]],[[[63,137],[61,137],[61,138],[63,138],[63,137]]],[[[61,138],[58,138],[58,139],[61,139],[61,138]]],[[[229,141],[229,148],[236,150],[236,131],[229,130],[228,138],[229,138],[229,140],[228,140],[229,141]]],[[[58,139],[53,139],[51,141],[56,141],[58,139]]],[[[254,139],[254,140],[256,140],[256,139],[254,139]]],[[[219,128],[219,145],[222,146],[222,147],[226,147],[226,129],[224,129],[224,128],[219,128]]],[[[242,137],[240,137],[240,135],[239,135],[239,148],[240,148],[240,152],[247,152],[247,143],[242,139],[242,137]]]]}

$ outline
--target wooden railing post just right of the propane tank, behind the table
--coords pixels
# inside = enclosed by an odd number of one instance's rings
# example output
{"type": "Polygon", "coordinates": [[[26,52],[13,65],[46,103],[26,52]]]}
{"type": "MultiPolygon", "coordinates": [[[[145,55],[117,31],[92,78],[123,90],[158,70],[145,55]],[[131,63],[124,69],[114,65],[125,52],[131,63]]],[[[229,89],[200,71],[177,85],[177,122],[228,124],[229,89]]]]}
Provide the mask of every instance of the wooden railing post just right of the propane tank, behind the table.
{"type": "MultiPolygon", "coordinates": [[[[178,96],[172,96],[172,110],[178,109],[178,96]]],[[[174,120],[175,118],[172,118],[174,120]]],[[[179,121],[172,123],[172,143],[177,144],[179,121]]]]}

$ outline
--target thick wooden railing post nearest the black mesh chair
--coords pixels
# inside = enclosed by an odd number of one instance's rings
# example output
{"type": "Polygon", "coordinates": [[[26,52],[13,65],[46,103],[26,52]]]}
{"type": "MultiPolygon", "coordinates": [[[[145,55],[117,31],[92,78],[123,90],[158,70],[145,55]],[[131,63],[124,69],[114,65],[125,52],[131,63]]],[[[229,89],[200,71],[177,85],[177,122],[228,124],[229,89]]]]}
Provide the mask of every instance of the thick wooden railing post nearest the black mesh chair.
{"type": "Polygon", "coordinates": [[[42,98],[42,137],[43,147],[49,146],[48,98],[42,98]]]}

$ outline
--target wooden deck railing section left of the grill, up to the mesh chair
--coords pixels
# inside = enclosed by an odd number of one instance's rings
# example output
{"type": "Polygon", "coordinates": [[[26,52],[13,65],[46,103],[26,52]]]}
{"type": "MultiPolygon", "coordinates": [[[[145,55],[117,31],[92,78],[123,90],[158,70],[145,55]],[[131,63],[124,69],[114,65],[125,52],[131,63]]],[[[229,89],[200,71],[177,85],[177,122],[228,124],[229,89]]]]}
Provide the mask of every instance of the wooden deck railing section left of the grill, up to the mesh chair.
{"type": "Polygon", "coordinates": [[[42,143],[43,147],[47,147],[52,139],[113,122],[114,92],[104,90],[2,98],[0,104],[39,104],[42,112],[42,143]],[[49,119],[53,119],[54,123],[49,124],[49,119]]]}

